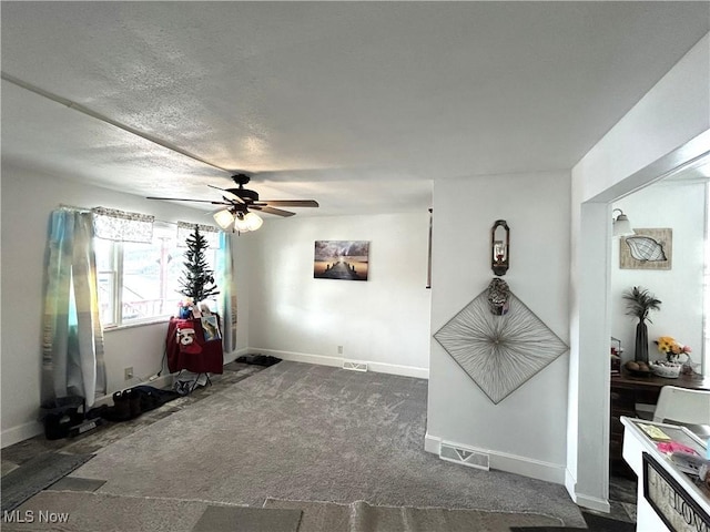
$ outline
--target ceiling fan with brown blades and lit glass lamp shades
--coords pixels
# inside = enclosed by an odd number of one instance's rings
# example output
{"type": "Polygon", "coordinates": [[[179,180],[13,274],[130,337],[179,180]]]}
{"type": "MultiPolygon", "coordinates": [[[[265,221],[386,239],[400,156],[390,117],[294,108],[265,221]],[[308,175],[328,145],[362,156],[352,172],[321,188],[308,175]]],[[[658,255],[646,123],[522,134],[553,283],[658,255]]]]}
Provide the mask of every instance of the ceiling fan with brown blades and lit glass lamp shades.
{"type": "Polygon", "coordinates": [[[251,177],[246,174],[235,174],[232,176],[237,188],[220,188],[219,186],[207,185],[217,191],[226,192],[222,196],[222,201],[212,200],[192,200],[186,197],[158,197],[148,196],[146,200],[163,200],[173,202],[199,202],[210,203],[212,205],[225,205],[224,208],[214,213],[214,221],[223,229],[233,227],[234,231],[246,232],[256,231],[261,227],[263,221],[252,211],[258,211],[276,216],[294,216],[296,213],[284,211],[276,207],[317,207],[318,202],[315,200],[260,200],[258,193],[244,188],[251,177]]]}

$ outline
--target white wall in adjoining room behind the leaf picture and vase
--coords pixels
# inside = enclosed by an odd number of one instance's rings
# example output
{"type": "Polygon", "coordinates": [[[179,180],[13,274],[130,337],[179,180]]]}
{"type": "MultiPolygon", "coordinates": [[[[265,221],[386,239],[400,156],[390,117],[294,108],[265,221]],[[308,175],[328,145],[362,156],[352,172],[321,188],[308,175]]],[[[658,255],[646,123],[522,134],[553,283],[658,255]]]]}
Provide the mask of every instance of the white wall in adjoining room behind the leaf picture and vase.
{"type": "Polygon", "coordinates": [[[706,185],[699,182],[659,182],[613,204],[635,227],[670,227],[672,269],[619,268],[619,243],[611,243],[611,336],[621,340],[623,361],[633,360],[638,319],[626,314],[622,294],[633,286],[648,288],[662,304],[648,323],[649,359],[663,358],[652,342],[672,336],[693,349],[696,362],[702,355],[706,185]]]}

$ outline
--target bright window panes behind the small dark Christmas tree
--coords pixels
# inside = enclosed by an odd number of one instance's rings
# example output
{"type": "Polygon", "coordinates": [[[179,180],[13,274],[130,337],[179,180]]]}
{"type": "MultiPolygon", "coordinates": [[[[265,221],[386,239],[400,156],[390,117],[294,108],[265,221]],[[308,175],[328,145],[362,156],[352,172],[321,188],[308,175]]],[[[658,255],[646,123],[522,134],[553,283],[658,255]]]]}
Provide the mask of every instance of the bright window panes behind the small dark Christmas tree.
{"type": "MultiPolygon", "coordinates": [[[[181,243],[182,244],[182,243],[181,243]]],[[[168,318],[183,296],[180,277],[185,247],[178,247],[175,226],[154,224],[150,244],[95,239],[99,305],[104,327],[168,318]]],[[[206,249],[214,269],[217,249],[206,249]]],[[[210,304],[215,308],[215,301],[210,304]]]]}

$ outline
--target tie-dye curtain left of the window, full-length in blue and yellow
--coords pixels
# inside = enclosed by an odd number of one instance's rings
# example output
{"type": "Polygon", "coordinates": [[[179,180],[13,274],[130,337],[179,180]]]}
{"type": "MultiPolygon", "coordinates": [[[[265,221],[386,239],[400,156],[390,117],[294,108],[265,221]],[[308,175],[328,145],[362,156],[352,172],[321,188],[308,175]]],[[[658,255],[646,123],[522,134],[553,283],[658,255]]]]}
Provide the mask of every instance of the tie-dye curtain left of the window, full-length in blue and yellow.
{"type": "Polygon", "coordinates": [[[42,401],[78,395],[92,406],[105,395],[91,212],[52,212],[42,332],[42,401]]]}

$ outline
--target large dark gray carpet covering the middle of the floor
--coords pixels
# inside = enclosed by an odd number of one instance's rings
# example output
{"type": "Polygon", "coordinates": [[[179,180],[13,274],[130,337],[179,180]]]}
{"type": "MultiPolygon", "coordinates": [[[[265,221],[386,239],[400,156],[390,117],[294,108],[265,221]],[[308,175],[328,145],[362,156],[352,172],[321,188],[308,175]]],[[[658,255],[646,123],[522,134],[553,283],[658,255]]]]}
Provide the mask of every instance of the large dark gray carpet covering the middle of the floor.
{"type": "Polygon", "coordinates": [[[99,451],[102,493],[538,513],[584,526],[561,485],[424,451],[427,381],[283,361],[99,451]]]}

